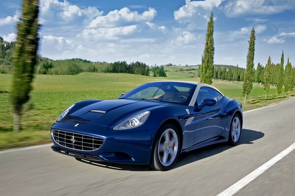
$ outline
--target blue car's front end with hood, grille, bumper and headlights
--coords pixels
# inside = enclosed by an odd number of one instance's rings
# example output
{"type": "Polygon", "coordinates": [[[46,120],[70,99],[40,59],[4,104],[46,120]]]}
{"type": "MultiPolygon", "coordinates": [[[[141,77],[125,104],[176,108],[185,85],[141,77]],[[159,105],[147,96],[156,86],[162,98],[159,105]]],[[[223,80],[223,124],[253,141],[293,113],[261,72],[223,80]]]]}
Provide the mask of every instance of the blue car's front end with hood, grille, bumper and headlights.
{"type": "Polygon", "coordinates": [[[160,103],[118,99],[77,110],[79,104],[67,108],[52,125],[54,151],[90,161],[148,164],[158,129],[157,123],[150,123],[157,115],[150,113],[160,103]]]}

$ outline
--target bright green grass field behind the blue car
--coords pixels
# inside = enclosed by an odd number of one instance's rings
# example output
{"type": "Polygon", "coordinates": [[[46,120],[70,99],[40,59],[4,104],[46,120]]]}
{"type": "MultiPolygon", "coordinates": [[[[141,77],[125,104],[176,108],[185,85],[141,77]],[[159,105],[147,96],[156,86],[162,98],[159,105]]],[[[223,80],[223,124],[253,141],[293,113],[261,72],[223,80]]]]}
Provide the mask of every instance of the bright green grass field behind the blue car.
{"type": "MultiPolygon", "coordinates": [[[[178,73],[178,72],[176,72],[178,73]]],[[[10,92],[11,74],[0,74],[0,92],[10,92]]],[[[0,149],[50,142],[49,130],[59,114],[74,102],[85,99],[116,99],[140,84],[158,80],[199,81],[182,75],[150,77],[125,73],[80,73],[78,75],[36,75],[30,101],[25,104],[22,130],[12,132],[12,113],[9,93],[0,93],[0,149]]],[[[213,81],[213,86],[227,97],[242,101],[242,83],[213,81]]],[[[267,100],[263,86],[254,85],[249,103],[244,109],[261,107],[294,96],[278,97],[276,88],[270,88],[267,100]]]]}

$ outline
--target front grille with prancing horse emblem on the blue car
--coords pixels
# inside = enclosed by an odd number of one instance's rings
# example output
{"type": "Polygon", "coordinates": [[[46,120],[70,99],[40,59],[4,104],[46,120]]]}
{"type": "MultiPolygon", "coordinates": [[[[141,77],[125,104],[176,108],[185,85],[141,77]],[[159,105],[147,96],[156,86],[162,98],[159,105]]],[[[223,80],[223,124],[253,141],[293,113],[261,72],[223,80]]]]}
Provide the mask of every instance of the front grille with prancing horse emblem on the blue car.
{"type": "Polygon", "coordinates": [[[103,143],[103,139],[101,138],[68,131],[52,130],[52,136],[54,141],[59,145],[76,150],[96,150],[103,143]]]}

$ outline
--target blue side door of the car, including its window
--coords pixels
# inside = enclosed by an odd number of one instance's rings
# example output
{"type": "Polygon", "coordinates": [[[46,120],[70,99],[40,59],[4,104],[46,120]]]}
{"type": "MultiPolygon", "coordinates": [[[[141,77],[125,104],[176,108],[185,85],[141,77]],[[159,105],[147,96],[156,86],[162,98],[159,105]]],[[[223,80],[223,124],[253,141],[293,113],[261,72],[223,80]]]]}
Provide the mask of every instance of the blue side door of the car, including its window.
{"type": "Polygon", "coordinates": [[[217,98],[214,89],[201,87],[196,99],[195,106],[200,105],[205,99],[215,99],[217,102],[213,106],[204,106],[195,111],[195,139],[194,145],[217,137],[224,131],[225,125],[220,119],[222,104],[217,98]]]}

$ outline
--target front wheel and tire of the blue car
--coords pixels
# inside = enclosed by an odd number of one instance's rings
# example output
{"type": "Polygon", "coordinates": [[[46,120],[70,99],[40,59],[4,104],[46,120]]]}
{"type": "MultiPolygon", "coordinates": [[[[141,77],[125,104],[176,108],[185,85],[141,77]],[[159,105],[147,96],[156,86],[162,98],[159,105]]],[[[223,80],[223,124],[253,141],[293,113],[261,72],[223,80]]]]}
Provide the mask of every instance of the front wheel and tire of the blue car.
{"type": "Polygon", "coordinates": [[[159,171],[171,169],[177,161],[179,150],[180,140],[176,126],[164,124],[154,140],[149,167],[159,171]]]}

